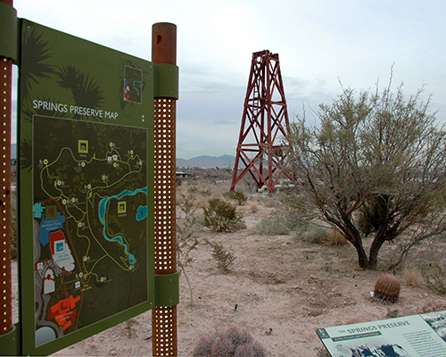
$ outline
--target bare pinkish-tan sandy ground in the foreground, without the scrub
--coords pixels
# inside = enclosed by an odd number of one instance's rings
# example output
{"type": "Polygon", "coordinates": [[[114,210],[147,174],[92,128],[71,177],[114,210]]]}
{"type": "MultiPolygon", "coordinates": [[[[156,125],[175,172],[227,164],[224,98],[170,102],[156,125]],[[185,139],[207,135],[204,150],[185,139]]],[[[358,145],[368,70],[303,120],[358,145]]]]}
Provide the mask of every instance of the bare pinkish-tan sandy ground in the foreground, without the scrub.
{"type": "MultiPolygon", "coordinates": [[[[359,270],[351,245],[312,245],[290,236],[254,235],[252,228],[271,211],[259,208],[250,212],[248,205],[241,207],[247,228],[229,234],[203,233],[202,237],[231,247],[236,259],[232,270],[224,274],[212,259],[209,245],[194,250],[194,262],[187,267],[193,306],[186,279],[180,277],[179,356],[191,356],[201,336],[233,326],[250,332],[268,356],[317,356],[316,348],[322,347],[317,328],[386,318],[387,306],[372,301],[370,292],[394,259],[395,247],[383,247],[378,270],[359,270]]],[[[445,248],[446,242],[423,245],[409,259],[444,266],[445,248]]],[[[435,294],[424,283],[403,284],[400,301],[392,310],[398,310],[399,316],[412,315],[433,303],[446,309],[446,296],[435,294]]],[[[151,356],[151,319],[148,311],[54,355],[151,356]]]]}

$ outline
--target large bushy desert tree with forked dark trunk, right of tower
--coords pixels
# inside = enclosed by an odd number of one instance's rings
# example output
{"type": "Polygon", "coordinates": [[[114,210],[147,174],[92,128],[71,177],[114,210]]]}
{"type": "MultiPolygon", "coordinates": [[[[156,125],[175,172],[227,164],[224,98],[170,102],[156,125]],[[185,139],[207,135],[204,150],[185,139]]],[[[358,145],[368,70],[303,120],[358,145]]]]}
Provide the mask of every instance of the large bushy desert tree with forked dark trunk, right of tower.
{"type": "Polygon", "coordinates": [[[343,88],[319,106],[314,124],[305,113],[297,118],[287,140],[295,178],[287,203],[300,220],[341,232],[363,269],[376,269],[380,248],[403,233],[398,266],[411,247],[446,230],[446,132],[423,89],[406,97],[391,82],[383,91],[343,88]]]}

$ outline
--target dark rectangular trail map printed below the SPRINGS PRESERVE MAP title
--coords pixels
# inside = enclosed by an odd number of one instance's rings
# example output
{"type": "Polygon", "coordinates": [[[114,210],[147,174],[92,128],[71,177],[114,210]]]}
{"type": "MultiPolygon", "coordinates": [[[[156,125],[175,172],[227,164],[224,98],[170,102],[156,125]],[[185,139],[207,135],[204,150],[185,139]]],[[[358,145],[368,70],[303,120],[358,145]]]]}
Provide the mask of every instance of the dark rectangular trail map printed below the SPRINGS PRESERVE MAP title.
{"type": "Polygon", "coordinates": [[[38,345],[148,299],[147,132],[34,117],[38,345]]]}

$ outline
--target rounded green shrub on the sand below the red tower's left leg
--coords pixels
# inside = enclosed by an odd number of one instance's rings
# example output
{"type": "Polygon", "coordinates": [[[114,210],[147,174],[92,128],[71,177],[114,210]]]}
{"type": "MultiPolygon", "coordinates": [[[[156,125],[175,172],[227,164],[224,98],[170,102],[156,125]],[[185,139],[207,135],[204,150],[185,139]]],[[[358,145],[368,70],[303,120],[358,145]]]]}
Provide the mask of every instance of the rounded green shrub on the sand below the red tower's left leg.
{"type": "Polygon", "coordinates": [[[241,216],[236,212],[235,206],[219,198],[211,198],[208,207],[203,208],[204,226],[213,232],[230,232],[240,226],[241,216]]]}

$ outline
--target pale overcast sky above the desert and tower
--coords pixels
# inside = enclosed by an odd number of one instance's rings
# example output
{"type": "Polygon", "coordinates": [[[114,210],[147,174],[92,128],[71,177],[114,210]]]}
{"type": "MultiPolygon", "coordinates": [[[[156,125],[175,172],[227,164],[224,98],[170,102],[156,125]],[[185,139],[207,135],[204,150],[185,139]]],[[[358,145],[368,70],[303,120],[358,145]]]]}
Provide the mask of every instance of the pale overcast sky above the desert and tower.
{"type": "Polygon", "coordinates": [[[152,25],[178,26],[178,157],[235,155],[252,53],[279,54],[290,120],[341,88],[425,85],[446,121],[444,0],[14,0],[21,18],[151,60],[152,25]]]}

